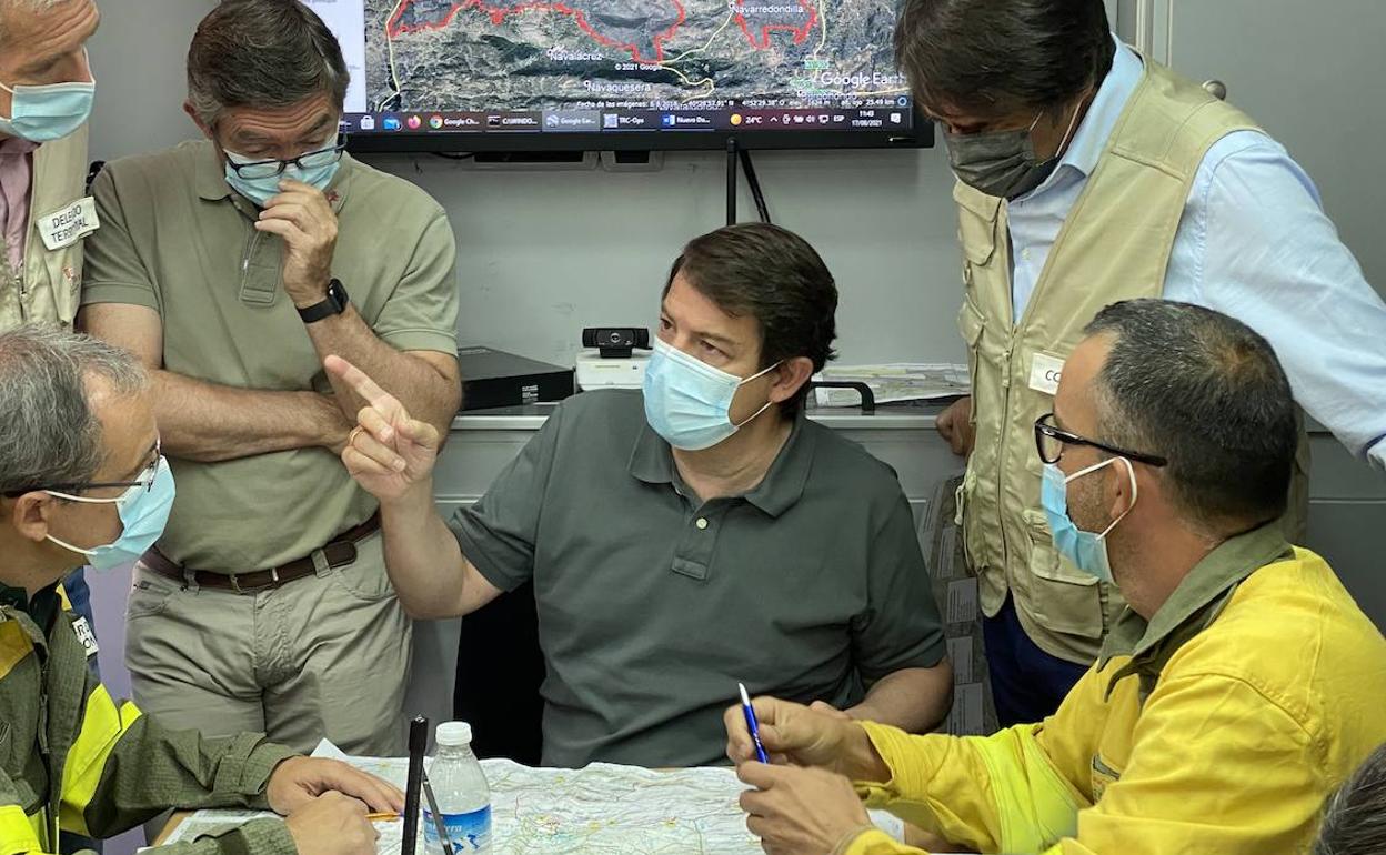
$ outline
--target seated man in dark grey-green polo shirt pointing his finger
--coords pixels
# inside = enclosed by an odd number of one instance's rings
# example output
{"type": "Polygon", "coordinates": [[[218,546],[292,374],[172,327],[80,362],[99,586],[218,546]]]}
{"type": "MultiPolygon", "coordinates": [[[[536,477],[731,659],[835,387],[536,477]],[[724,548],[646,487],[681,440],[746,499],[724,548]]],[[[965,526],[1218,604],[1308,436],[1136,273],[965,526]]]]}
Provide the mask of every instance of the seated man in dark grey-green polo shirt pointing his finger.
{"type": "Polygon", "coordinates": [[[643,394],[564,402],[450,524],[437,430],[328,358],[371,405],[342,460],[380,499],[405,608],[463,615],[534,581],[545,764],[718,762],[737,680],[908,730],[942,719],[951,673],[900,482],[802,416],[836,308],[822,259],[783,229],[692,241],[643,394]]]}

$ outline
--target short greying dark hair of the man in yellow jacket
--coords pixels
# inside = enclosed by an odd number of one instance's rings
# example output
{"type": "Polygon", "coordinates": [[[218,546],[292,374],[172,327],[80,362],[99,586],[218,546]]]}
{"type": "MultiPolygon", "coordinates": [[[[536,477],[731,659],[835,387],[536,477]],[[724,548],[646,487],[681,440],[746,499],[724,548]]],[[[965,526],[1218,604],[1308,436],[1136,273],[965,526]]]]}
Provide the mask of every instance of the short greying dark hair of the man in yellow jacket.
{"type": "Polygon", "coordinates": [[[1227,536],[1285,513],[1299,417],[1279,359],[1242,321],[1166,299],[1107,306],[1112,337],[1094,400],[1102,439],[1160,455],[1177,509],[1227,536]]]}

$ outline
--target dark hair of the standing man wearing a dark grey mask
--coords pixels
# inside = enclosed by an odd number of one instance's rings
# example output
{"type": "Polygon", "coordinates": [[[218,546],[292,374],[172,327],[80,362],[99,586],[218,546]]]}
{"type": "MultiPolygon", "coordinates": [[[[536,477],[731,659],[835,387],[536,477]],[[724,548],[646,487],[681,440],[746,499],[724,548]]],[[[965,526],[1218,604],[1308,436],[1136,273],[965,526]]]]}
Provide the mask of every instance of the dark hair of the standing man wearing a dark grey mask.
{"type": "Polygon", "coordinates": [[[924,107],[1053,109],[1112,71],[1102,0],[905,0],[895,62],[924,107]]]}

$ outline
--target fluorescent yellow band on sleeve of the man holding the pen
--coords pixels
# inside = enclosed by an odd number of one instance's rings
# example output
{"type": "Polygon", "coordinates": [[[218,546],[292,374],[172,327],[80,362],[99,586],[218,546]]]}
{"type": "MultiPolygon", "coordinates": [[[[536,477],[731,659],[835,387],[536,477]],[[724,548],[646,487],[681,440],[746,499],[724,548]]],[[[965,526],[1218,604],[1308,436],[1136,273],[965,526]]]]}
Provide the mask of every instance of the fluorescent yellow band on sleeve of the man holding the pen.
{"type": "Polygon", "coordinates": [[[1035,740],[1037,726],[1010,728],[973,743],[987,765],[1001,852],[1040,852],[1078,830],[1078,804],[1035,740]]]}

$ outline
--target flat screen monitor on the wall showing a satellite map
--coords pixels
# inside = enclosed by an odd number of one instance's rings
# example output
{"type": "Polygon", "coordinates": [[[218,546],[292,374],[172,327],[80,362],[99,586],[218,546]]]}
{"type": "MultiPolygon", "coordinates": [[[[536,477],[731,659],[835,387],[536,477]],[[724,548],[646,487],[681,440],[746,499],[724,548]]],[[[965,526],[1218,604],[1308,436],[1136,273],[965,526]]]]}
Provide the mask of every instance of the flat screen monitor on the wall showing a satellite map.
{"type": "Polygon", "coordinates": [[[898,0],[308,0],[355,151],[912,147],[898,0]]]}

